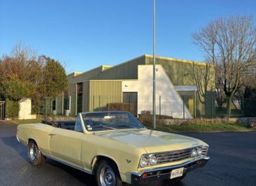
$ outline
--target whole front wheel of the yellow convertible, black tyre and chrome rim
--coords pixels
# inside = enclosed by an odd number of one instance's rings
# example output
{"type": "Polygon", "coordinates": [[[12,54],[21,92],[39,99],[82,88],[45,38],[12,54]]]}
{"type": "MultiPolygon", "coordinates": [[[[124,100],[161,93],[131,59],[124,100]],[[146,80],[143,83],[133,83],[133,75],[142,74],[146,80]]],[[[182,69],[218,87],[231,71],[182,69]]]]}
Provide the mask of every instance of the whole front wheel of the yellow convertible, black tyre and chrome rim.
{"type": "Polygon", "coordinates": [[[101,160],[96,169],[98,186],[121,186],[122,180],[116,165],[110,160],[101,160]]]}

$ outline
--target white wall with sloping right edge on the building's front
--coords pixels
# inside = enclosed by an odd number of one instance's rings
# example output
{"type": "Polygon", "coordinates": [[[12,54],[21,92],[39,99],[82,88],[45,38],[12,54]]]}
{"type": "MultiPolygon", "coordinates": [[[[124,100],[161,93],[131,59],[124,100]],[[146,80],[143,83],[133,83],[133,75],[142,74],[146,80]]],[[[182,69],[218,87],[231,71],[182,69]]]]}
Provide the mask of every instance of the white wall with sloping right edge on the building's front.
{"type": "MultiPolygon", "coordinates": [[[[156,114],[184,118],[183,101],[161,65],[156,65],[156,114]]],[[[138,92],[138,114],[152,111],[153,65],[138,65],[138,80],[122,82],[122,92],[138,92]]],[[[192,118],[185,105],[185,118],[192,118]]]]}

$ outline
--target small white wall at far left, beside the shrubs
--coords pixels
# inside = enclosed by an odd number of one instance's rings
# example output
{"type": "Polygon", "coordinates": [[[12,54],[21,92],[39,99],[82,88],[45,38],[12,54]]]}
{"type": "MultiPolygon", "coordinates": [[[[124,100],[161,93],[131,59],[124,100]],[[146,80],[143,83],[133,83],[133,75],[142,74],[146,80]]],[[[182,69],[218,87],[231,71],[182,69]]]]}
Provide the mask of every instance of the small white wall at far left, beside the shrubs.
{"type": "Polygon", "coordinates": [[[31,114],[31,109],[31,99],[22,99],[19,102],[19,120],[35,119],[35,115],[31,114]]]}

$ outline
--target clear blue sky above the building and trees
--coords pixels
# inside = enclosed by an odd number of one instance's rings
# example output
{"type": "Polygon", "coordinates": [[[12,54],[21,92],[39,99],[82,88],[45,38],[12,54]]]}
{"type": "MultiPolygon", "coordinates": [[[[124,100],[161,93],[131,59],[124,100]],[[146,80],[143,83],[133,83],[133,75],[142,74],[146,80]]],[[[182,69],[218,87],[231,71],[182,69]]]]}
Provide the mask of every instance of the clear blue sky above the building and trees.
{"type": "MultiPolygon", "coordinates": [[[[152,0],[0,0],[0,56],[23,43],[84,72],[152,54],[152,0]]],[[[156,55],[203,61],[192,33],[217,17],[254,15],[255,0],[156,0],[156,55]]]]}

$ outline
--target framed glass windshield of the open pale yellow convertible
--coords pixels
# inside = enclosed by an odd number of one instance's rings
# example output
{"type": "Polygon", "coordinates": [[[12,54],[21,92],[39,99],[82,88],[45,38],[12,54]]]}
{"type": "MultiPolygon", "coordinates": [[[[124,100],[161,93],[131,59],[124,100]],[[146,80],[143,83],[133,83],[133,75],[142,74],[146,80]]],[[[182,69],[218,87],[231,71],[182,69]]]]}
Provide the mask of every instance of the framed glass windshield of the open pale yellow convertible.
{"type": "Polygon", "coordinates": [[[88,131],[144,128],[129,112],[92,112],[82,114],[88,131]]]}

